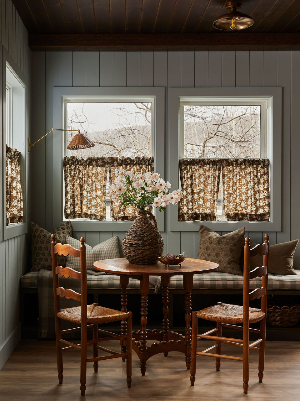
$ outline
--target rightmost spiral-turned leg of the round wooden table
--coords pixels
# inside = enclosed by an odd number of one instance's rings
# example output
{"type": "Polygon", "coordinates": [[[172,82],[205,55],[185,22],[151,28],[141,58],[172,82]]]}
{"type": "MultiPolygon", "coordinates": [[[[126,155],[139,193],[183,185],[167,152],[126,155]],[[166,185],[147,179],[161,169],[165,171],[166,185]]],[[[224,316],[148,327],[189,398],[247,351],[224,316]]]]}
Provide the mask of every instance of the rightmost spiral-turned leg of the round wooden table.
{"type": "Polygon", "coordinates": [[[185,341],[186,341],[186,369],[190,369],[191,366],[191,339],[192,339],[192,328],[190,327],[191,322],[191,310],[192,310],[192,288],[193,288],[193,274],[186,274],[183,276],[184,286],[184,310],[185,310],[185,341]]]}

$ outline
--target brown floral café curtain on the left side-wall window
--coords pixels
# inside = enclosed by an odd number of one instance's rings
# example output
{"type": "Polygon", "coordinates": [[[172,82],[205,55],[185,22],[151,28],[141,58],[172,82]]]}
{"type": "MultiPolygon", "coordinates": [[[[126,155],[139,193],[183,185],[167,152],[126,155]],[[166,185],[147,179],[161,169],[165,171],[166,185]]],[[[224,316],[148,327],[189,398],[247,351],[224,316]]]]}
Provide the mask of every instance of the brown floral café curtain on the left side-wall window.
{"type": "Polygon", "coordinates": [[[23,221],[19,156],[17,149],[6,145],[6,225],[23,221]]]}

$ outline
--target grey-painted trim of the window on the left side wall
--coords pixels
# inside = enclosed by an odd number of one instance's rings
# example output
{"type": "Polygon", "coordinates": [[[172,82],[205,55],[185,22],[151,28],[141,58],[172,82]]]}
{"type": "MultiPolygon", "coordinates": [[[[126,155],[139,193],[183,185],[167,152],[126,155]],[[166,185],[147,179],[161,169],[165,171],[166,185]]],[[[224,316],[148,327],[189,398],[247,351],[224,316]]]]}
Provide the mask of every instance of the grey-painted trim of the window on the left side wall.
{"type": "MultiPolygon", "coordinates": [[[[6,135],[2,136],[3,144],[3,163],[2,163],[2,180],[3,180],[3,196],[2,196],[2,227],[3,227],[3,240],[17,237],[25,234],[28,231],[28,152],[27,152],[27,137],[28,137],[28,79],[20,68],[16,65],[14,60],[10,57],[8,52],[3,48],[3,59],[2,59],[2,87],[6,87],[6,63],[10,66],[10,69],[14,73],[16,79],[20,82],[20,85],[24,88],[24,120],[20,121],[22,125],[22,137],[11,138],[12,147],[17,148],[20,152],[20,176],[22,184],[22,196],[23,196],[23,222],[13,223],[6,226],[6,135]]],[[[6,93],[2,91],[2,116],[3,118],[3,132],[6,132],[6,93]]],[[[13,99],[11,99],[13,102],[13,99]]],[[[12,103],[12,120],[13,116],[13,103],[12,103]]],[[[19,118],[19,117],[18,117],[19,118]]],[[[17,118],[16,118],[17,119],[17,118]]],[[[17,119],[18,120],[18,119],[17,119]]]]}

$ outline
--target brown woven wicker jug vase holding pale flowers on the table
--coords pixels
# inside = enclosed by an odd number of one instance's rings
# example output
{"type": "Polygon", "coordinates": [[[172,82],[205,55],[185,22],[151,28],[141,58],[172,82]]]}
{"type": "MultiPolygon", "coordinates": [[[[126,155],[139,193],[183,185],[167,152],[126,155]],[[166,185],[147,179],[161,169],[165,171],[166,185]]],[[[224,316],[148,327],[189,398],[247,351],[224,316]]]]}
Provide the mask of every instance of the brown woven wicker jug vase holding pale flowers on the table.
{"type": "Polygon", "coordinates": [[[138,211],[138,218],[123,239],[122,249],[128,262],[135,265],[158,262],[158,256],[161,256],[164,250],[164,241],[152,213],[146,210],[138,211]],[[152,217],[154,225],[150,223],[147,215],[152,217]]]}

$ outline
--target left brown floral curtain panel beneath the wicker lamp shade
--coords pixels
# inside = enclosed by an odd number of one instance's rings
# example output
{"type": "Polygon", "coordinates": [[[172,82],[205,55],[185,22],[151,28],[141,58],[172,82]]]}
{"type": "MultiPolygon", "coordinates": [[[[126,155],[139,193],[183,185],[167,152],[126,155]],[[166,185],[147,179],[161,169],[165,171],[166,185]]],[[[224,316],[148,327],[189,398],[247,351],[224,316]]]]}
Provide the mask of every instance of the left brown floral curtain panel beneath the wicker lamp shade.
{"type": "Polygon", "coordinates": [[[106,219],[108,158],[64,157],[66,219],[106,219]]]}

